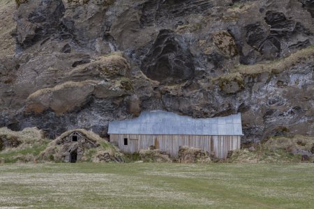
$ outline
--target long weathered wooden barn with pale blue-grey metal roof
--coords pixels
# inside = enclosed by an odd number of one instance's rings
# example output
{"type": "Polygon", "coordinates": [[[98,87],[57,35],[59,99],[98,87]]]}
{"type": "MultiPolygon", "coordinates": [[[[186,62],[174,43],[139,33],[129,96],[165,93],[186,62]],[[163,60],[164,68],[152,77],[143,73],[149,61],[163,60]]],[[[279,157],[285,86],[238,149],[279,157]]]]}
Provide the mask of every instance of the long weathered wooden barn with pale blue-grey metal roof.
{"type": "Polygon", "coordinates": [[[124,153],[150,146],[177,157],[179,146],[200,148],[224,159],[240,148],[241,114],[217,118],[191,118],[167,111],[144,111],[138,118],[109,123],[110,142],[124,153]]]}

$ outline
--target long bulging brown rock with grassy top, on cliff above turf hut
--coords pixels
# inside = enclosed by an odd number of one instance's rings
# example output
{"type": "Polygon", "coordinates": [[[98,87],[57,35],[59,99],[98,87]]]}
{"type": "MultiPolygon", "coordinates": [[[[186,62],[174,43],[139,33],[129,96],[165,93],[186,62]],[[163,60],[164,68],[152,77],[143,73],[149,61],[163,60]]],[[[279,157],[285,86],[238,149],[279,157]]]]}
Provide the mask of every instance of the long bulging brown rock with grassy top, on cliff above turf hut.
{"type": "Polygon", "coordinates": [[[80,109],[91,97],[106,99],[128,95],[131,84],[123,80],[117,82],[101,82],[87,80],[84,82],[66,82],[54,88],[45,88],[29,95],[25,111],[40,114],[51,109],[57,115],[80,109]]]}

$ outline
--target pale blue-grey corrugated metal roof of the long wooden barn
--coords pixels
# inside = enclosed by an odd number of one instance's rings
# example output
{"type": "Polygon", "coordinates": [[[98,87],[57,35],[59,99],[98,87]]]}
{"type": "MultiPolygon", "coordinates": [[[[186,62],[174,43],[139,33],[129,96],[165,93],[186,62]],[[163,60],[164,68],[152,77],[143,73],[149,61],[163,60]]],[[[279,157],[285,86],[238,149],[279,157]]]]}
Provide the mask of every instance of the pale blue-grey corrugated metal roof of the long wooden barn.
{"type": "Polygon", "coordinates": [[[108,134],[242,135],[241,114],[191,118],[167,111],[144,111],[138,118],[110,122],[108,134]]]}

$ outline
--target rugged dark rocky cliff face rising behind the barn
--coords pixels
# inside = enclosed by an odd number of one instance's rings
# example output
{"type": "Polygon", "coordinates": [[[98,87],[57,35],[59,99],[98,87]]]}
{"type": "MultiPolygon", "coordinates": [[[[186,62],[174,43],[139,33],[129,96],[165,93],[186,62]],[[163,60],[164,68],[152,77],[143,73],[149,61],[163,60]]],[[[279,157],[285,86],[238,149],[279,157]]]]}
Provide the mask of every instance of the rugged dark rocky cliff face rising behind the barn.
{"type": "Polygon", "coordinates": [[[241,112],[244,141],[314,136],[314,1],[19,2],[0,126],[105,135],[108,121],[163,109],[241,112]]]}

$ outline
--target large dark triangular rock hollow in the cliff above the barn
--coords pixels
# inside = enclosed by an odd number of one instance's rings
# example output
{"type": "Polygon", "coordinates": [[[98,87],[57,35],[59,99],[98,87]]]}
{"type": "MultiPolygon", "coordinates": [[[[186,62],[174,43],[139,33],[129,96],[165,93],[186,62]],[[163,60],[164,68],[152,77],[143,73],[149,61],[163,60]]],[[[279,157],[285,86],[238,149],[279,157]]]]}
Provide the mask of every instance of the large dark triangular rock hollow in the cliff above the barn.
{"type": "Polygon", "coordinates": [[[158,82],[170,84],[194,77],[195,66],[188,44],[170,30],[160,31],[142,63],[144,74],[158,82]]]}

